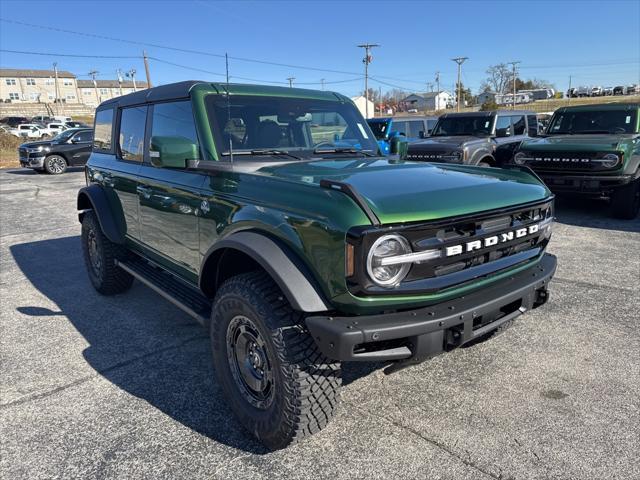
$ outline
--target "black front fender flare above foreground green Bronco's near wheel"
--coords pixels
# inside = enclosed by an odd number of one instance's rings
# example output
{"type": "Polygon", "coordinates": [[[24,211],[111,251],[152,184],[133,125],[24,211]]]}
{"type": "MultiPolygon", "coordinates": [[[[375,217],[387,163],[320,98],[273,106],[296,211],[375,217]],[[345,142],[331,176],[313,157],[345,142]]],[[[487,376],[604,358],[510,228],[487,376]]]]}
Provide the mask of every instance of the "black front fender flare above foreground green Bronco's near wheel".
{"type": "MultiPolygon", "coordinates": [[[[307,268],[288,249],[261,233],[241,231],[213,245],[205,255],[201,268],[199,286],[207,281],[205,266],[208,260],[225,249],[238,250],[257,262],[278,284],[282,293],[295,310],[302,312],[324,312],[331,307],[324,300],[319,287],[307,268]]],[[[210,279],[210,278],[209,278],[210,279]]]]}

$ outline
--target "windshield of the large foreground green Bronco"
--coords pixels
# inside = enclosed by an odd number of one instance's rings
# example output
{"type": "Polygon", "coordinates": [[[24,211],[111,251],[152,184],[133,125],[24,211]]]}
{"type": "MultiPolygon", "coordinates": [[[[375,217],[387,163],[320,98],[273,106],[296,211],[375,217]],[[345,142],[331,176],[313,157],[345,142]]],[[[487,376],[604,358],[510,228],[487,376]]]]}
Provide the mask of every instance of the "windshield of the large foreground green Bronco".
{"type": "MultiPolygon", "coordinates": [[[[377,152],[369,126],[350,103],[232,95],[207,97],[217,148],[233,152],[280,151],[296,156],[338,149],[377,152]]],[[[268,154],[268,153],[267,153],[268,154]]]]}

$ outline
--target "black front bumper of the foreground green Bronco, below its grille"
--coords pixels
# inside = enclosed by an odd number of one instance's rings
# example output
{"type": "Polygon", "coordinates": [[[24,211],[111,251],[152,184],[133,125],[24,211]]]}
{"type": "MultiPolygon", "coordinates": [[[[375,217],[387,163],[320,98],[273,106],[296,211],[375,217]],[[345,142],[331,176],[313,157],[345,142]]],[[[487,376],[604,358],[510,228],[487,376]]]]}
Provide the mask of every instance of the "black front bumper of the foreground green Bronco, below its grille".
{"type": "Polygon", "coordinates": [[[421,361],[459,347],[544,304],[556,257],[471,294],[426,308],[357,317],[311,316],[323,354],[344,361],[421,361]]]}

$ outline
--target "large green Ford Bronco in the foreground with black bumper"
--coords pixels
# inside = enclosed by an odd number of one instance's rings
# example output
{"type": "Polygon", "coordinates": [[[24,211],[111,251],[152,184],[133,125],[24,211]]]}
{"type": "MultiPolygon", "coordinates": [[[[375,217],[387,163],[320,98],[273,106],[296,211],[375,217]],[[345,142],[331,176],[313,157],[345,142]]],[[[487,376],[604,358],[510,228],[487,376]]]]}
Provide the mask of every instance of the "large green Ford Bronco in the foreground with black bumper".
{"type": "Polygon", "coordinates": [[[331,419],[341,361],[397,369],[548,298],[535,175],[381,157],[340,94],[182,82],[102,103],[94,128],[91,283],[136,278],[208,328],[230,408],[272,449],[331,419]]]}

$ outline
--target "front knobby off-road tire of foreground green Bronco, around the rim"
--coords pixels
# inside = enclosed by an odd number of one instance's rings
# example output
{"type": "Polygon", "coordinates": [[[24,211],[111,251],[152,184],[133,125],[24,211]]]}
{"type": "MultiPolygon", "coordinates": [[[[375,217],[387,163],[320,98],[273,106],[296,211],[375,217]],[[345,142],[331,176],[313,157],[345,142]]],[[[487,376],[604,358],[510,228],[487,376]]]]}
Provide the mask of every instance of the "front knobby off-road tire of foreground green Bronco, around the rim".
{"type": "Polygon", "coordinates": [[[271,450],[320,431],[339,402],[340,363],[318,350],[302,320],[263,271],[228,279],[213,303],[211,345],[218,382],[240,423],[271,450]],[[227,336],[239,317],[250,319],[264,339],[273,397],[263,408],[247,399],[232,372],[233,353],[227,336]]]}

